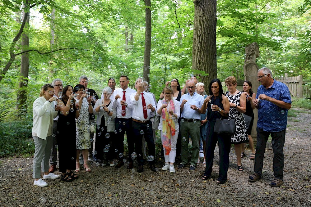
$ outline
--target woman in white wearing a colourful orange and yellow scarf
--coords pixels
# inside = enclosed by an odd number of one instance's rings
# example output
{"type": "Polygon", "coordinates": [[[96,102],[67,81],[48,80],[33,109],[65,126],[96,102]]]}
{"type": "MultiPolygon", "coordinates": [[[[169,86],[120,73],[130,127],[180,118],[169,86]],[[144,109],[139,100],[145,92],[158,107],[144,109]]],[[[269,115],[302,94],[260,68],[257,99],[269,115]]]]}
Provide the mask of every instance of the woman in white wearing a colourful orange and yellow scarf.
{"type": "Polygon", "coordinates": [[[165,164],[162,170],[175,173],[174,162],[176,158],[176,144],[179,134],[178,119],[180,116],[179,101],[172,98],[174,91],[165,87],[162,90],[163,100],[158,101],[156,115],[160,116],[160,136],[164,151],[165,164]]]}

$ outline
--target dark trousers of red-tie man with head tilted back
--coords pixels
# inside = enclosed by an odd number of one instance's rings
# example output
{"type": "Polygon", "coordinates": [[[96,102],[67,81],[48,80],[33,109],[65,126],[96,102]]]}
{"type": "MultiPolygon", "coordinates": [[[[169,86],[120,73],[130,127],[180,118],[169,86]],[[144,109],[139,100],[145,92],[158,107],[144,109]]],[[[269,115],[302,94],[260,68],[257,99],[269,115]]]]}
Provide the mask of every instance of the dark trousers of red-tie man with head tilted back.
{"type": "MultiPolygon", "coordinates": [[[[145,137],[145,140],[147,142],[148,155],[155,157],[155,154],[156,154],[155,143],[153,141],[152,123],[150,120],[146,122],[145,124],[132,121],[132,128],[134,130],[134,136],[135,136],[134,141],[135,141],[135,149],[137,153],[137,162],[138,162],[138,165],[143,165],[145,161],[143,154],[142,154],[143,136],[145,137]],[[149,124],[149,127],[147,127],[147,124],[149,124]]],[[[152,160],[149,163],[153,164],[154,162],[155,161],[152,160]]]]}

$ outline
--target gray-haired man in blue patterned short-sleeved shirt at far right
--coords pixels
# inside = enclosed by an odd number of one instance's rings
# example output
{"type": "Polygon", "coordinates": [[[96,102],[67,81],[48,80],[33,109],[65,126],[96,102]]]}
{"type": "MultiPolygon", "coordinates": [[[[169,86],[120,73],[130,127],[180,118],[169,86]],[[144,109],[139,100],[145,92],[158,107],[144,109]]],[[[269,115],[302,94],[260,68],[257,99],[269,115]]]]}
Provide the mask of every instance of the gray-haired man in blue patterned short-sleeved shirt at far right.
{"type": "Polygon", "coordinates": [[[256,182],[262,176],[263,156],[265,154],[268,137],[272,137],[273,174],[272,187],[283,184],[285,130],[287,124],[287,110],[291,108],[290,92],[284,83],[272,78],[272,72],[264,67],[258,70],[258,87],[256,99],[253,100],[258,109],[257,145],[255,155],[255,173],[248,180],[256,182]]]}

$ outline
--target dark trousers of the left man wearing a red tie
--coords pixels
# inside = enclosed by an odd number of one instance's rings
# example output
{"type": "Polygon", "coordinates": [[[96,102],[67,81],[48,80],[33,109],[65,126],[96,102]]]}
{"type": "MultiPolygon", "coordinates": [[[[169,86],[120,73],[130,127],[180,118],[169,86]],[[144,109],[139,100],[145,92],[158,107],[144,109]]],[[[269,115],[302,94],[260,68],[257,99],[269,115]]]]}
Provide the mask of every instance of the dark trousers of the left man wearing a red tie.
{"type": "MultiPolygon", "coordinates": [[[[124,134],[126,133],[126,138],[128,141],[128,161],[132,161],[131,154],[135,151],[135,144],[133,139],[133,128],[132,128],[132,118],[115,118],[116,123],[116,146],[118,153],[124,153],[124,134]],[[125,123],[125,124],[123,124],[125,123]],[[121,130],[120,130],[121,129],[121,130]],[[120,132],[121,131],[121,132],[120,132]]],[[[123,157],[118,157],[119,160],[123,161],[123,157]]]]}

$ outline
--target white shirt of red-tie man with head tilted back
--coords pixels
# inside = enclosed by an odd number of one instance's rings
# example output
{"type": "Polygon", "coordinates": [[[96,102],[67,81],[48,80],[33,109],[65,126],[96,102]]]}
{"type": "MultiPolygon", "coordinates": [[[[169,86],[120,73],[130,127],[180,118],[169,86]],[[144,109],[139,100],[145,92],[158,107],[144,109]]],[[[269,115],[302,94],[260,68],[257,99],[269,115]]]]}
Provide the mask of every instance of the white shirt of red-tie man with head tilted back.
{"type": "MultiPolygon", "coordinates": [[[[149,104],[152,104],[153,107],[155,107],[156,110],[156,103],[152,97],[152,95],[150,93],[147,92],[143,92],[144,93],[144,98],[145,98],[145,102],[146,102],[146,106],[148,106],[149,104]]],[[[146,121],[149,120],[151,117],[151,109],[147,109],[147,119],[144,118],[144,110],[142,107],[142,94],[139,94],[139,99],[138,101],[135,100],[135,93],[131,94],[131,103],[132,103],[132,109],[133,109],[133,114],[132,114],[132,118],[133,119],[137,119],[140,121],[146,121]]]]}

